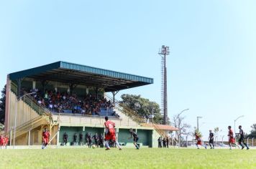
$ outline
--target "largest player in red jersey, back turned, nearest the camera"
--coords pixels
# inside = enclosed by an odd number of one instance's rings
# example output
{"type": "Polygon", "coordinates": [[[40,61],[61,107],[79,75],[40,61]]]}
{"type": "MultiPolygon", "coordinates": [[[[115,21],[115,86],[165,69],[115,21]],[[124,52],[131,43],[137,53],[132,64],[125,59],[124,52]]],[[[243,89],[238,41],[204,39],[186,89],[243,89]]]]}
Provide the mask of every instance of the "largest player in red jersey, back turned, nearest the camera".
{"type": "Polygon", "coordinates": [[[110,150],[109,148],[109,140],[114,141],[116,143],[116,146],[119,148],[119,150],[122,150],[120,147],[119,143],[116,140],[116,130],[114,129],[115,124],[114,122],[111,122],[109,120],[109,117],[105,117],[106,122],[104,122],[104,127],[105,127],[105,146],[106,150],[110,150]]]}

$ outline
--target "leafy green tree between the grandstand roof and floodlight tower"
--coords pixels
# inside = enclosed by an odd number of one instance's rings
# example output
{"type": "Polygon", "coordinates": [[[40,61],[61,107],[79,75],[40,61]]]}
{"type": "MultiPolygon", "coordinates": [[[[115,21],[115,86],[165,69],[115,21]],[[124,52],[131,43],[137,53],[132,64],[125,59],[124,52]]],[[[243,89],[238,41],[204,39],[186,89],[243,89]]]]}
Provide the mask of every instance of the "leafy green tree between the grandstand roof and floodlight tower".
{"type": "Polygon", "coordinates": [[[142,118],[149,118],[153,115],[153,121],[157,124],[163,122],[163,116],[160,114],[160,107],[156,102],[151,102],[148,99],[140,97],[140,95],[128,95],[121,96],[122,104],[126,105],[130,109],[137,112],[142,118]]]}

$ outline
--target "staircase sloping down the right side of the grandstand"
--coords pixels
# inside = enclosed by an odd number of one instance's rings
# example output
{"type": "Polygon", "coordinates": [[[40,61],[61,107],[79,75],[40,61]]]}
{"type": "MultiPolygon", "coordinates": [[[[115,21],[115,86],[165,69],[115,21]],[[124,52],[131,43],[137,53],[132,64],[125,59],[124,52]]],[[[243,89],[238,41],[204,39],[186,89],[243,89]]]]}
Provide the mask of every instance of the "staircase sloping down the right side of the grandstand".
{"type": "Polygon", "coordinates": [[[115,101],[113,100],[112,97],[110,97],[109,95],[105,94],[105,97],[107,99],[109,99],[111,102],[114,103],[115,109],[118,110],[119,112],[121,112],[122,114],[120,114],[120,117],[124,117],[127,116],[130,119],[132,119],[134,122],[137,122],[137,124],[144,126],[144,127],[153,127],[155,129],[155,131],[158,132],[159,135],[161,135],[162,137],[167,137],[167,135],[165,134],[165,132],[163,130],[161,130],[159,127],[157,127],[157,124],[154,123],[145,123],[145,119],[140,117],[140,115],[138,115],[136,112],[134,112],[134,110],[130,109],[129,107],[127,107],[126,105],[120,103],[118,100],[115,99],[115,101]]]}

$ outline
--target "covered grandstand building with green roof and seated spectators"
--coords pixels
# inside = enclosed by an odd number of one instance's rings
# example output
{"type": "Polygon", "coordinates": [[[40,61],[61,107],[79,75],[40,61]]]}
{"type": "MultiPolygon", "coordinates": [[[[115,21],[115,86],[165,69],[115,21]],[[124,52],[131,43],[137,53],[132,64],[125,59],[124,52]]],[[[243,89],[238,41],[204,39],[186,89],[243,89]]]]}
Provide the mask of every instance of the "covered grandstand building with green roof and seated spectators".
{"type": "Polygon", "coordinates": [[[104,133],[107,115],[116,124],[119,143],[132,143],[127,138],[129,128],[134,128],[141,145],[157,147],[159,135],[178,129],[145,124],[145,119],[114,99],[119,90],[152,83],[148,77],[61,61],[8,74],[5,132],[11,144],[41,145],[46,127],[50,145],[63,143],[64,132],[71,144],[75,133],[83,137],[86,132],[104,133]]]}

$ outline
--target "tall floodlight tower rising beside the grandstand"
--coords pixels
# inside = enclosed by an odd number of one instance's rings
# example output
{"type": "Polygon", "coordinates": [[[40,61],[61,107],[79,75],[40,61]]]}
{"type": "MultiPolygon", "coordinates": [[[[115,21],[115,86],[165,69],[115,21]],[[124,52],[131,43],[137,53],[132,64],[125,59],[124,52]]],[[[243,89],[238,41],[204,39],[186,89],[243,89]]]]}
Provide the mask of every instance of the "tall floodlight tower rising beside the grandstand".
{"type": "Polygon", "coordinates": [[[163,115],[163,124],[166,125],[168,122],[168,110],[167,110],[167,69],[166,69],[166,56],[170,54],[169,47],[162,45],[162,48],[159,50],[158,54],[162,58],[162,86],[161,86],[161,109],[163,115]]]}

